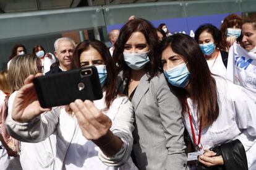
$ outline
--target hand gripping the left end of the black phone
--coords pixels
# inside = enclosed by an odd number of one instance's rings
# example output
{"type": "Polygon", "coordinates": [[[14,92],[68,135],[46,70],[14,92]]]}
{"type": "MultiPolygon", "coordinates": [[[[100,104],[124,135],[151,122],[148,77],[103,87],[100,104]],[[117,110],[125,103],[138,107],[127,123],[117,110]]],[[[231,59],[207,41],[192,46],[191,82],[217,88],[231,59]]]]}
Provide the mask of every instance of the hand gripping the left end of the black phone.
{"type": "MultiPolygon", "coordinates": [[[[40,76],[43,74],[36,74],[40,76]]],[[[12,119],[17,122],[30,122],[36,116],[40,115],[45,111],[51,111],[51,108],[41,108],[38,101],[35,86],[33,84],[34,75],[29,75],[25,79],[22,88],[17,92],[12,106],[12,119]]]]}

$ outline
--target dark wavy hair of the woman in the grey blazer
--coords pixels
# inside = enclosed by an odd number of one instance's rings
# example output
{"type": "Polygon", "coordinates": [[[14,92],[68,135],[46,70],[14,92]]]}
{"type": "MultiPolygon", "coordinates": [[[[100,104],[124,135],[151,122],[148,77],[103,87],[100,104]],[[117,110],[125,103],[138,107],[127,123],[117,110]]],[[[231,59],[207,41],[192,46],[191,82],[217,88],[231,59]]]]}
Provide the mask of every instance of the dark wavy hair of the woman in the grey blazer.
{"type": "Polygon", "coordinates": [[[129,66],[127,66],[126,62],[124,61],[124,45],[130,38],[130,35],[134,32],[140,32],[143,33],[145,36],[148,46],[149,46],[149,53],[148,57],[150,59],[150,62],[148,62],[145,66],[145,71],[149,77],[148,80],[152,79],[155,75],[158,75],[159,69],[159,58],[158,56],[158,36],[156,33],[156,28],[151,25],[150,22],[148,22],[145,19],[134,19],[129,20],[120,30],[118,39],[116,43],[114,44],[114,52],[113,52],[113,58],[114,61],[118,65],[117,72],[123,71],[124,72],[124,78],[130,79],[130,72],[131,69],[129,66]]]}

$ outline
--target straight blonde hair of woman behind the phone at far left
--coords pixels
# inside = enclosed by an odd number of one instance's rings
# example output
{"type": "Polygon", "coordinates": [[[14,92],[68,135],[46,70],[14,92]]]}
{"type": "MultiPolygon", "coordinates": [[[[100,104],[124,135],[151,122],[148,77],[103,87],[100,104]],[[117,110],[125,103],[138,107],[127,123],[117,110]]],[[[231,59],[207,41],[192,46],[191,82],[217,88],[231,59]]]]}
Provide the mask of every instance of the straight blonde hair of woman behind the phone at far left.
{"type": "Polygon", "coordinates": [[[34,54],[25,54],[25,56],[16,56],[12,59],[8,72],[9,85],[11,93],[20,90],[24,85],[24,80],[30,74],[37,74],[37,63],[41,61],[34,54]]]}

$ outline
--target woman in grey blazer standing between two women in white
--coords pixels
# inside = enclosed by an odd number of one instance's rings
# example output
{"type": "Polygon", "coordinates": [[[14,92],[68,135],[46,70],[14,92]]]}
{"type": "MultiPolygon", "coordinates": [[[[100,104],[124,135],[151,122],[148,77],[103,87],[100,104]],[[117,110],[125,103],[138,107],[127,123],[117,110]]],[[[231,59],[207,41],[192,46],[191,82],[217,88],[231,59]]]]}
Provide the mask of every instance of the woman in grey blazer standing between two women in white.
{"type": "Polygon", "coordinates": [[[115,43],[119,90],[135,110],[134,162],[139,169],[186,169],[181,105],[160,74],[157,46],[156,29],[144,19],[127,22],[115,43]]]}

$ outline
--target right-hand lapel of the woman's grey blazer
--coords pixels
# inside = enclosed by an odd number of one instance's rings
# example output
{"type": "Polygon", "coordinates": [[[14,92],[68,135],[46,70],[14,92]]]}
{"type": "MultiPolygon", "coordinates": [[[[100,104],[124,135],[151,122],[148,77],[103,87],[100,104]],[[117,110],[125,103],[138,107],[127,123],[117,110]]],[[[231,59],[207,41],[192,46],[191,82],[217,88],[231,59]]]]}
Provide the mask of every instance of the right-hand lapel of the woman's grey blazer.
{"type": "Polygon", "coordinates": [[[140,79],[139,85],[136,88],[134,96],[132,98],[132,104],[134,105],[134,111],[136,111],[137,106],[139,105],[142,97],[148,91],[150,83],[148,82],[147,74],[143,75],[142,79],[140,79]]]}

